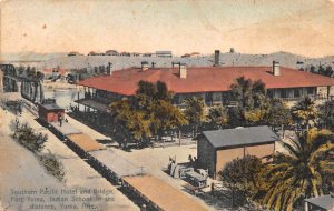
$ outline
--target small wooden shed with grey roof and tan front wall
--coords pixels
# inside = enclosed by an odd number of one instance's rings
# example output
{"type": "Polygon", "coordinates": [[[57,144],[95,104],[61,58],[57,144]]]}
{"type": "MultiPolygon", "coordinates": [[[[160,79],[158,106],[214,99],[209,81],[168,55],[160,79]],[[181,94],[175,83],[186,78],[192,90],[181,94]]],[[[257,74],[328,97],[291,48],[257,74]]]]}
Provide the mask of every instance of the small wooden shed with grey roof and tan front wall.
{"type": "Polygon", "coordinates": [[[274,153],[276,140],[278,135],[267,125],[203,131],[197,141],[198,167],[216,178],[236,158],[249,154],[266,159],[274,153]]]}

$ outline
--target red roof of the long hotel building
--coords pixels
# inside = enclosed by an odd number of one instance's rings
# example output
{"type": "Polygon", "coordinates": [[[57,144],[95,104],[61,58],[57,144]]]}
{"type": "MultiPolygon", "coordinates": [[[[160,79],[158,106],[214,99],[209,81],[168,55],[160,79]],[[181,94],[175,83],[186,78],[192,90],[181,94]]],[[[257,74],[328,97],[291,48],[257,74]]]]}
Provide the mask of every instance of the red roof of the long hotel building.
{"type": "Polygon", "coordinates": [[[175,93],[228,91],[236,78],[262,80],[267,89],[334,86],[334,79],[281,67],[281,76],[273,76],[272,67],[188,67],[187,78],[180,79],[177,68],[128,68],[111,76],[95,77],[79,84],[125,96],[136,93],[144,81],[163,81],[175,93]]]}

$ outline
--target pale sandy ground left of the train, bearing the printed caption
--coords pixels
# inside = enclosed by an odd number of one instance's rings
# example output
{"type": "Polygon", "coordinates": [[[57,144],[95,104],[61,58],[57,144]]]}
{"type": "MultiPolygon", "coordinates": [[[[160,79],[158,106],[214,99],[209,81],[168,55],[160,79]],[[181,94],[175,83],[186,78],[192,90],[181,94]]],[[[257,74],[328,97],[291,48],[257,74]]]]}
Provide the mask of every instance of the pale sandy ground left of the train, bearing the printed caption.
{"type": "MultiPolygon", "coordinates": [[[[42,153],[50,151],[63,164],[66,179],[59,182],[52,175],[48,174],[45,168],[40,164],[38,158],[23,147],[10,139],[9,122],[14,118],[13,114],[0,109],[1,114],[1,130],[0,130],[0,201],[2,210],[29,210],[31,202],[27,201],[27,194],[23,195],[24,202],[16,202],[11,198],[11,190],[38,190],[48,188],[61,191],[65,190],[108,190],[112,191],[110,201],[106,202],[104,193],[94,194],[78,194],[77,197],[102,197],[100,201],[92,207],[82,207],[82,201],[75,201],[66,204],[76,204],[78,210],[139,210],[129,199],[120,193],[107,180],[101,178],[94,169],[91,169],[85,161],[78,158],[70,149],[68,149],[60,140],[58,140],[51,132],[38,124],[30,113],[23,112],[20,120],[29,122],[36,131],[47,133],[49,139],[42,153]]],[[[57,194],[51,194],[57,197],[57,194]]],[[[33,195],[32,195],[33,197],[33,195]]],[[[47,195],[47,200],[49,195],[47,195]]],[[[69,198],[71,199],[71,198],[69,198]]],[[[53,202],[56,210],[65,210],[59,204],[53,202]]],[[[1,207],[0,207],[1,210],[1,207]]],[[[31,209],[30,209],[31,210],[31,209]]],[[[43,209],[50,210],[50,209],[43,209]]],[[[75,209],[69,209],[75,210],[75,209]]]]}

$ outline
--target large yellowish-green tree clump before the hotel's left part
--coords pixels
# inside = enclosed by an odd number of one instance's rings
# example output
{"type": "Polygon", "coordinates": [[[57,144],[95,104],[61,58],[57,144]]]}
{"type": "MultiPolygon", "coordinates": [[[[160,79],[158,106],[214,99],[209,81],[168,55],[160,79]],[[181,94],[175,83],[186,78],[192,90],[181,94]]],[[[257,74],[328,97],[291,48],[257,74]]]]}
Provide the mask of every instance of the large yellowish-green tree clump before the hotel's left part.
{"type": "Polygon", "coordinates": [[[139,81],[136,96],[111,103],[110,111],[117,141],[124,144],[130,140],[147,142],[154,135],[160,139],[165,131],[188,123],[180,110],[171,104],[171,93],[160,81],[139,81]]]}

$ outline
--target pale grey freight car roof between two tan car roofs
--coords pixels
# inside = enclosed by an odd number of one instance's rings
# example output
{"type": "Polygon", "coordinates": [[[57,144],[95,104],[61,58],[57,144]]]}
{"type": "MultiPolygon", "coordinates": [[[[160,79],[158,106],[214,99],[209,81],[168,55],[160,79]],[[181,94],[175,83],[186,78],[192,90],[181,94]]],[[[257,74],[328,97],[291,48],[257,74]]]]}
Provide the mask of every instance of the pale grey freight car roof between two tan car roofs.
{"type": "Polygon", "coordinates": [[[116,154],[112,150],[95,151],[89,154],[116,173],[118,178],[145,173],[140,167],[116,154]]]}

